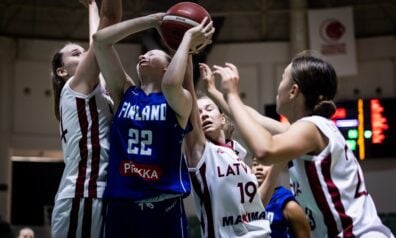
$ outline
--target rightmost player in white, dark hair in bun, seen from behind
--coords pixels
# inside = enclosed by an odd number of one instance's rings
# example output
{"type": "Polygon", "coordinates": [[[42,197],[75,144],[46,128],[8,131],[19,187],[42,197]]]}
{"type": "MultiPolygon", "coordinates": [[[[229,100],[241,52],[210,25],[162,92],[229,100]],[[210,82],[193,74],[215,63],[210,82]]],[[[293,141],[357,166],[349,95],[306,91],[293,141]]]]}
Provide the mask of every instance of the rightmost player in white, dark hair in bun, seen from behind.
{"type": "Polygon", "coordinates": [[[276,135],[246,113],[233,64],[215,66],[214,74],[222,79],[233,121],[257,160],[289,162],[293,192],[308,216],[312,237],[393,237],[377,215],[358,161],[329,120],[337,91],[329,63],[304,53],[285,68],[276,104],[291,126],[276,135]]]}

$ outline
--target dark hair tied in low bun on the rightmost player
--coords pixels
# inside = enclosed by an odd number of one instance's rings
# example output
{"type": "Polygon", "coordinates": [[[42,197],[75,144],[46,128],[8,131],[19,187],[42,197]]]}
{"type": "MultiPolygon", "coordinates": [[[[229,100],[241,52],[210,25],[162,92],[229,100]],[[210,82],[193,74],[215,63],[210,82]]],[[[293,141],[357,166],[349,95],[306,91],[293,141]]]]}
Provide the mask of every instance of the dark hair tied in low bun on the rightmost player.
{"type": "Polygon", "coordinates": [[[331,64],[312,52],[303,52],[291,62],[292,79],[305,96],[312,115],[330,118],[336,110],[333,99],[337,92],[337,75],[331,64]]]}

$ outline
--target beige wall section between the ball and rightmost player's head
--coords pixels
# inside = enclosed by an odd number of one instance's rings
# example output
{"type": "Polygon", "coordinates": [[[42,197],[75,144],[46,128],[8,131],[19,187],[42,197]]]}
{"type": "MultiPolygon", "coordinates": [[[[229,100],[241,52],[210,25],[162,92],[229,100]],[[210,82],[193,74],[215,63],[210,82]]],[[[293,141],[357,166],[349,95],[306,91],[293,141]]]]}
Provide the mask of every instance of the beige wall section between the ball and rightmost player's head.
{"type": "Polygon", "coordinates": [[[288,53],[288,43],[216,45],[208,57],[208,64],[229,62],[238,66],[245,103],[263,111],[264,104],[274,102],[278,80],[289,61],[288,53]]]}

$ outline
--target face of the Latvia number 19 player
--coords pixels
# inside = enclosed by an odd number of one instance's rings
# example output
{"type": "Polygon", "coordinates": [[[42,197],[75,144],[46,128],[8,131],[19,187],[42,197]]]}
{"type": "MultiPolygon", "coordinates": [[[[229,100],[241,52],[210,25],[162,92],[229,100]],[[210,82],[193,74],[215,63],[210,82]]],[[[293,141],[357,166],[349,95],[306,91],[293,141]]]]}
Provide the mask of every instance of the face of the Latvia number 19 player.
{"type": "Polygon", "coordinates": [[[212,133],[220,132],[225,123],[225,118],[217,105],[209,98],[200,98],[197,103],[205,135],[210,136],[212,133]]]}

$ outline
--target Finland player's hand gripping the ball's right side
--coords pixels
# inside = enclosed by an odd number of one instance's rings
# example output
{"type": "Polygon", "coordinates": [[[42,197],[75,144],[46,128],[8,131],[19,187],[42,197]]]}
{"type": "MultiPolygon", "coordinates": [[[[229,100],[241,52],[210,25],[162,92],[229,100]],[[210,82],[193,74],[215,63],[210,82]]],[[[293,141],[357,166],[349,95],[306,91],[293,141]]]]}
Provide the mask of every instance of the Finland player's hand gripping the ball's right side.
{"type": "Polygon", "coordinates": [[[208,17],[205,17],[199,25],[186,31],[185,34],[190,34],[192,38],[190,53],[197,54],[205,46],[211,44],[214,32],[213,21],[209,21],[208,17]]]}

